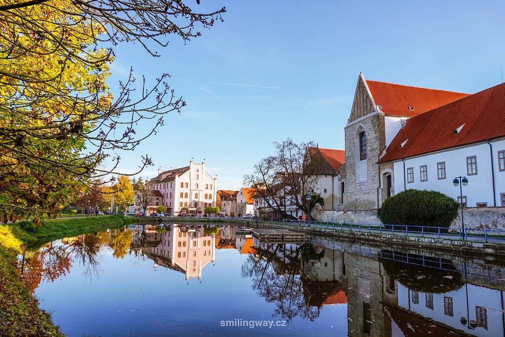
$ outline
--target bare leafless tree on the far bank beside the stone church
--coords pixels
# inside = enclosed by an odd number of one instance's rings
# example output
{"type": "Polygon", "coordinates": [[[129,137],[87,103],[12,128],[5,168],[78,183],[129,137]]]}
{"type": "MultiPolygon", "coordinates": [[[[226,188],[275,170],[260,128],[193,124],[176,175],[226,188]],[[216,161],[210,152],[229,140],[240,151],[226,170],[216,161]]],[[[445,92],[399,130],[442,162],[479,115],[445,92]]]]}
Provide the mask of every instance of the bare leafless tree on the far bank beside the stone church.
{"type": "Polygon", "coordinates": [[[274,142],[274,155],[261,159],[250,175],[243,177],[246,186],[257,189],[257,195],[284,218],[286,207],[296,206],[309,219],[310,202],[307,196],[318,188],[318,173],[324,163],[320,152],[311,152],[313,142],[295,143],[290,138],[274,142]]]}

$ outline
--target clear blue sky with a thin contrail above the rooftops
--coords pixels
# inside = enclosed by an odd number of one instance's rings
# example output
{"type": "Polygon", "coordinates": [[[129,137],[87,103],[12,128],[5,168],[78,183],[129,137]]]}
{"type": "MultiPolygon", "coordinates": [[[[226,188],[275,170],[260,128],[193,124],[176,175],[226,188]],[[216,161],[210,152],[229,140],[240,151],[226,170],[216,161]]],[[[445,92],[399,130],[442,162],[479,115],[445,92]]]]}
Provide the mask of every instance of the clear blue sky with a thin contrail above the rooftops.
{"type": "MultiPolygon", "coordinates": [[[[239,189],[274,141],[312,140],[344,148],[344,126],[360,72],[366,79],[475,93],[502,82],[503,1],[188,2],[201,12],[226,6],[224,22],[184,44],[171,38],[162,56],[138,44],[115,47],[110,87],[136,75],[169,73],[187,106],[133,152],[119,153],[123,172],[142,154],[158,168],[205,159],[219,189],[239,189]],[[387,5],[386,5],[387,4],[387,5]],[[199,137],[198,135],[204,135],[199,137]]],[[[139,126],[141,134],[149,123],[139,126]]]]}

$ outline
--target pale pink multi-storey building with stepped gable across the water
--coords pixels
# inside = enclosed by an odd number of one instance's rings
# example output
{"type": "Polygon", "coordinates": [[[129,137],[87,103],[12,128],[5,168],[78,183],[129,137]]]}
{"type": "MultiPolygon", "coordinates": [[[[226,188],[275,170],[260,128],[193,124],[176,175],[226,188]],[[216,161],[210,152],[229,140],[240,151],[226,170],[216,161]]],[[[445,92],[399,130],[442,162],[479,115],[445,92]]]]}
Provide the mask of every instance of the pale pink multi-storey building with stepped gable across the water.
{"type": "Polygon", "coordinates": [[[190,160],[189,166],[169,171],[160,169],[158,176],[147,182],[147,186],[155,191],[147,213],[163,205],[167,207],[167,214],[172,216],[179,215],[181,208],[188,208],[193,215],[204,214],[205,207],[216,206],[216,185],[217,178],[205,171],[205,161],[197,164],[190,160]]]}

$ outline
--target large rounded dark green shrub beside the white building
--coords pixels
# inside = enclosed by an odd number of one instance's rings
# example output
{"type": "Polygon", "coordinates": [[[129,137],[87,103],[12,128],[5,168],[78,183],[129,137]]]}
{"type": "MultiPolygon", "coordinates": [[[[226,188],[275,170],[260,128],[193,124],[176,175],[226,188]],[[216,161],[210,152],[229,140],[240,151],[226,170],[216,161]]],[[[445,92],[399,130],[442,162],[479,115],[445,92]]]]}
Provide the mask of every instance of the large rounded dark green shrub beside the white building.
{"type": "MultiPolygon", "coordinates": [[[[458,215],[459,207],[456,200],[443,193],[411,189],[387,198],[377,216],[386,225],[448,228],[458,215]]],[[[402,230],[397,226],[394,229],[402,230]]],[[[421,231],[421,228],[409,227],[409,231],[421,231]]]]}

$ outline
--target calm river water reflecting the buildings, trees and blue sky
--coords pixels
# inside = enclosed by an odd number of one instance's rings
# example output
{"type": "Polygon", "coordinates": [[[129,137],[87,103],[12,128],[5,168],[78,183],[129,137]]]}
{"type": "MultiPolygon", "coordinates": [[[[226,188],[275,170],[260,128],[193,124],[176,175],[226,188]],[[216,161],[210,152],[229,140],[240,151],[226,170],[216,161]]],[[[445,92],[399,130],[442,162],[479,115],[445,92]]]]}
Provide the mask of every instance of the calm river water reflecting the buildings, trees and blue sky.
{"type": "Polygon", "coordinates": [[[213,226],[64,238],[19,269],[69,336],[505,335],[503,263],[213,226]]]}

